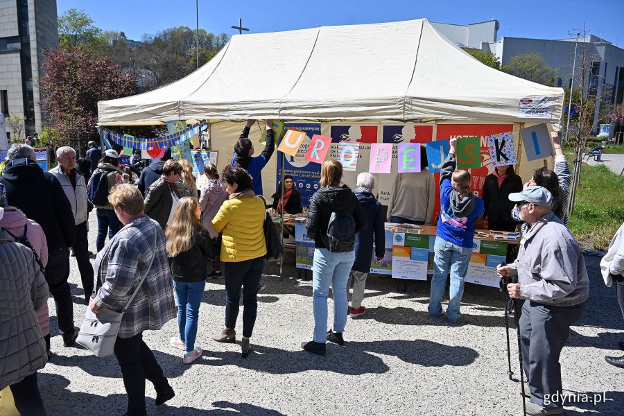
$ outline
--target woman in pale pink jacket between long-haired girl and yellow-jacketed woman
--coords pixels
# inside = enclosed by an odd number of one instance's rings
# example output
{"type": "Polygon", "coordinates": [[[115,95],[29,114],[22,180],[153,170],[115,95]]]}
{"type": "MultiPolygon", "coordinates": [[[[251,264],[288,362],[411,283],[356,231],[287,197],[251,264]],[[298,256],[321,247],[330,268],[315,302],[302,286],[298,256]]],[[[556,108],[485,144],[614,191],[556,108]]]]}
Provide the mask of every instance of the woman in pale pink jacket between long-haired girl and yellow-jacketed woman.
{"type": "MultiPolygon", "coordinates": [[[[212,227],[212,218],[216,216],[223,201],[227,199],[229,194],[225,191],[223,182],[219,180],[219,174],[216,170],[214,163],[209,163],[204,166],[204,173],[208,177],[208,182],[202,189],[202,196],[200,196],[200,209],[202,210],[202,225],[206,227],[212,239],[216,239],[219,235],[218,232],[212,227]]],[[[218,256],[214,257],[213,261],[214,271],[211,272],[206,280],[218,279],[221,277],[221,261],[218,256]]]]}

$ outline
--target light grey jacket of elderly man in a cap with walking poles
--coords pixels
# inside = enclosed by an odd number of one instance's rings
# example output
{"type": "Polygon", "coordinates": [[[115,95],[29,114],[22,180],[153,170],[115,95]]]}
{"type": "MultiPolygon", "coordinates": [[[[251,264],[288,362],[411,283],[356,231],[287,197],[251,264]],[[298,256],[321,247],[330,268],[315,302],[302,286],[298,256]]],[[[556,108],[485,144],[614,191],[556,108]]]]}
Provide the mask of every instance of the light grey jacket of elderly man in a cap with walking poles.
{"type": "Polygon", "coordinates": [[[549,212],[520,241],[510,264],[520,297],[548,306],[574,306],[589,297],[589,277],[580,247],[562,221],[549,212]]]}

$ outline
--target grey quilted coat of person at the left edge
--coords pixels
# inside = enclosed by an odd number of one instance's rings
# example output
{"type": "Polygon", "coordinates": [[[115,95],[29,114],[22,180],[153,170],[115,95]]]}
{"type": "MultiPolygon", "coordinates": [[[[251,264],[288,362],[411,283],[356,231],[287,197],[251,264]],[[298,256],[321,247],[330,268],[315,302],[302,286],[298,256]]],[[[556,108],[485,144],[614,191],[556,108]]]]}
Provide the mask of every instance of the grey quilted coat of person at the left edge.
{"type": "Polygon", "coordinates": [[[36,311],[46,305],[48,295],[33,252],[0,230],[0,390],[46,364],[36,311]]]}

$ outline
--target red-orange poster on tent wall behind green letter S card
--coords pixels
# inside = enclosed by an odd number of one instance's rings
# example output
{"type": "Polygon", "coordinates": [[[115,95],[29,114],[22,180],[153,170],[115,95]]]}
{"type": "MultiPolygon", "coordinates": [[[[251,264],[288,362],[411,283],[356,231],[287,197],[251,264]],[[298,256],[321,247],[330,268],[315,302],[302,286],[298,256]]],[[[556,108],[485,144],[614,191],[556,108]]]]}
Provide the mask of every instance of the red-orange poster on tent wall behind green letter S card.
{"type": "MultiPolygon", "coordinates": [[[[435,139],[449,140],[453,137],[479,137],[481,167],[471,168],[469,171],[472,177],[470,189],[478,193],[478,196],[482,196],[485,177],[494,171],[494,166],[492,166],[491,157],[489,155],[488,136],[511,132],[513,129],[513,124],[437,124],[435,126],[435,139]]],[[[440,173],[436,173],[435,183],[439,181],[440,173]]],[[[440,215],[440,187],[436,187],[435,189],[433,219],[437,219],[438,215],[440,215]]]]}

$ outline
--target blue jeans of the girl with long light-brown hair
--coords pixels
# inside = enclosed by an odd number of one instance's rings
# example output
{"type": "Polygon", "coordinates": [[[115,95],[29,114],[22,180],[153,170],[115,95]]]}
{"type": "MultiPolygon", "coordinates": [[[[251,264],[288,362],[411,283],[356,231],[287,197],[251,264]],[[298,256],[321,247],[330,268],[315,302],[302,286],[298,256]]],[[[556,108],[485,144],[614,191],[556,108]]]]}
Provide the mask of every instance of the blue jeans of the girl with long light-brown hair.
{"type": "Polygon", "coordinates": [[[184,343],[187,352],[195,349],[199,307],[205,286],[205,280],[173,281],[177,298],[177,329],[180,331],[180,340],[184,343]]]}

